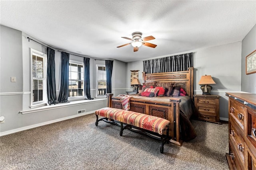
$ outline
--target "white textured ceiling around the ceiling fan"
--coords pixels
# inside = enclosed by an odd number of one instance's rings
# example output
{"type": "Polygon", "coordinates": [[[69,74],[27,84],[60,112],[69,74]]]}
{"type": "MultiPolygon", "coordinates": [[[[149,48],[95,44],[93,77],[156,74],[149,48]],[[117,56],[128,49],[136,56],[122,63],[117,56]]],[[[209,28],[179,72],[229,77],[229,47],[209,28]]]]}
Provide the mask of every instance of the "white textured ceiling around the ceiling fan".
{"type": "Polygon", "coordinates": [[[256,24],[256,1],[0,1],[0,24],[58,49],[124,62],[242,41],[256,24]],[[156,48],[133,52],[132,33],[156,48]]]}

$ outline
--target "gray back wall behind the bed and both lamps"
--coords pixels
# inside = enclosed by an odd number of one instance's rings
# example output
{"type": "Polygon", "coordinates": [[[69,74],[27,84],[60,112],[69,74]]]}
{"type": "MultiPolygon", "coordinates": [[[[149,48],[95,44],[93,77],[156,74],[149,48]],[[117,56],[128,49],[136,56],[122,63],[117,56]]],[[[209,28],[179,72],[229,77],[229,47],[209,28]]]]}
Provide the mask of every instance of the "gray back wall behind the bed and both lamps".
{"type": "MultiPolygon", "coordinates": [[[[196,49],[183,53],[190,52],[195,52],[194,94],[202,94],[200,86],[198,85],[201,76],[205,74],[211,75],[216,82],[216,84],[212,85],[213,89],[211,94],[220,95],[222,97],[220,98],[220,117],[223,120],[228,120],[228,98],[225,96],[225,93],[240,92],[241,90],[241,42],[196,49]]],[[[176,54],[168,56],[173,55],[176,54]]],[[[127,63],[126,66],[126,88],[130,88],[130,70],[140,70],[139,80],[142,83],[141,72],[143,72],[143,61],[130,62],[127,63]]]]}

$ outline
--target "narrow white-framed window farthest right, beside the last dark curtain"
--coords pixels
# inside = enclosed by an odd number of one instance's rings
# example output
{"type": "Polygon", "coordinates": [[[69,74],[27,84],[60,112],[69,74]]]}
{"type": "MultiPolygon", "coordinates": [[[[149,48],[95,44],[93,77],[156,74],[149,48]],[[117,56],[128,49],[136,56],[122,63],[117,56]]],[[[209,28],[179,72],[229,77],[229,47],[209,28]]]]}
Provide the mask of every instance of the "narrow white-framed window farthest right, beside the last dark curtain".
{"type": "Polygon", "coordinates": [[[106,66],[96,65],[96,96],[106,96],[106,66]]]}

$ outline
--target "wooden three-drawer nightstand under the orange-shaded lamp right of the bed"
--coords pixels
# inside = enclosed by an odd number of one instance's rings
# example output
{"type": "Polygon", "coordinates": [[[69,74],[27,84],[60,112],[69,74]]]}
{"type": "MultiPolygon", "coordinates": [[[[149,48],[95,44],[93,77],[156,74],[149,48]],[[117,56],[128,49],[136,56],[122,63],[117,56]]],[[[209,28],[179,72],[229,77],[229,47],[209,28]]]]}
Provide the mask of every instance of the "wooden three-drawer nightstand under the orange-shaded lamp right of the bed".
{"type": "Polygon", "coordinates": [[[219,95],[200,95],[194,96],[194,103],[198,120],[208,121],[212,123],[220,123],[220,98],[219,95]]]}

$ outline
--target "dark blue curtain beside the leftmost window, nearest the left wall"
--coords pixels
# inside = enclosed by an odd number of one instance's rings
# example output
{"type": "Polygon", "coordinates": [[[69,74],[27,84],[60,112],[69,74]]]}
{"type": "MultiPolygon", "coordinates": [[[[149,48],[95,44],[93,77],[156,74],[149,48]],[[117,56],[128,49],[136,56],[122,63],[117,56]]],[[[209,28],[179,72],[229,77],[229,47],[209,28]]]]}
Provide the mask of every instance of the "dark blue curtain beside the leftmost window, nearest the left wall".
{"type": "Polygon", "coordinates": [[[48,104],[57,104],[55,83],[55,50],[47,47],[47,98],[48,104]]]}

